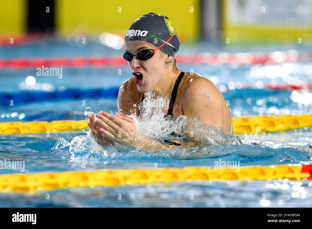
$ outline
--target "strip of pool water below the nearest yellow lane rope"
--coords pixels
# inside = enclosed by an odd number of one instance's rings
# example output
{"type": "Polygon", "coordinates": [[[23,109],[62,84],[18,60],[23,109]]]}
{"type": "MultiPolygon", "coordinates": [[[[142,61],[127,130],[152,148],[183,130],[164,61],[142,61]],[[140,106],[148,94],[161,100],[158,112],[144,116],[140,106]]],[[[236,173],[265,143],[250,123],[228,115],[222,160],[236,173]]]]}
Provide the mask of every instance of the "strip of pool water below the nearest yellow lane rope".
{"type": "Polygon", "coordinates": [[[1,194],[2,207],[305,207],[311,206],[311,182],[196,181],[151,185],[72,188],[1,194]],[[46,199],[46,193],[50,199],[46,199]],[[121,194],[121,199],[118,198],[121,194]],[[265,194],[266,199],[262,199],[265,194]],[[193,199],[191,199],[193,195],[193,199]],[[14,200],[14,201],[12,201],[14,200]]]}

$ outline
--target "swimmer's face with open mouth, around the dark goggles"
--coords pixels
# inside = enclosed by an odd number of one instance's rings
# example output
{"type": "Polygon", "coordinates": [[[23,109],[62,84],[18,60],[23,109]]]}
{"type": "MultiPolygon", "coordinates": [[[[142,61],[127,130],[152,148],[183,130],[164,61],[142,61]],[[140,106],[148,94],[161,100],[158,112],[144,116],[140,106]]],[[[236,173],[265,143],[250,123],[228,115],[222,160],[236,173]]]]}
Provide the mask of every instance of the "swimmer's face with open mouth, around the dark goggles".
{"type": "MultiPolygon", "coordinates": [[[[154,45],[151,45],[145,41],[126,41],[125,51],[133,55],[145,49],[155,49],[154,45]]],[[[168,55],[167,55],[168,56],[168,55]]],[[[154,55],[148,60],[139,60],[136,56],[132,61],[128,61],[132,74],[134,75],[135,84],[140,92],[146,93],[157,90],[157,83],[164,74],[166,57],[163,52],[157,50],[154,55]],[[142,76],[137,75],[140,73],[142,76]],[[141,79],[142,78],[142,79],[141,79]]]]}

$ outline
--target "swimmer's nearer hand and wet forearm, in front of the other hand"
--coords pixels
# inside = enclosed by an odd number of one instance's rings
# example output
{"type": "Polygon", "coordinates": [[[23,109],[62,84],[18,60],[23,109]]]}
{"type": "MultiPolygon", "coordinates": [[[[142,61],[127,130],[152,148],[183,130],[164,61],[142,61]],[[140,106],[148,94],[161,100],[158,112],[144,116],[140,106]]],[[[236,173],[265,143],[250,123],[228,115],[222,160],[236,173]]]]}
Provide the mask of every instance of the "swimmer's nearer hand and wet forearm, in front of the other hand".
{"type": "Polygon", "coordinates": [[[116,112],[116,116],[107,112],[99,112],[96,123],[100,124],[100,131],[111,140],[124,146],[133,146],[140,150],[157,151],[173,148],[166,146],[159,141],[149,138],[137,130],[133,118],[116,112]]]}

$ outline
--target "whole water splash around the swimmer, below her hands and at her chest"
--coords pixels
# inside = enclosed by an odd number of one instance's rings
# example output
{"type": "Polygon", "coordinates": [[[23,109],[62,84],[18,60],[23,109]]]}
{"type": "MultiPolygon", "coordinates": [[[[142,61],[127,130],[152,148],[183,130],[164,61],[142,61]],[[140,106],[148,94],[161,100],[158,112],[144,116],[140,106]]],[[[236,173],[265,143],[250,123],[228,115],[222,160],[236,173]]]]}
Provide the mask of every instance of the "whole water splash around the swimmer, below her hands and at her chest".
{"type": "Polygon", "coordinates": [[[164,143],[165,140],[186,141],[186,136],[193,136],[197,143],[196,146],[176,147],[170,150],[161,150],[157,152],[145,152],[133,147],[115,144],[103,148],[96,143],[95,137],[91,131],[87,131],[85,136],[76,136],[70,143],[71,159],[82,158],[114,158],[130,156],[161,156],[165,158],[172,157],[203,157],[214,152],[214,148],[204,149],[213,145],[241,145],[241,141],[236,136],[224,134],[218,130],[218,126],[208,126],[201,120],[188,119],[185,115],[178,118],[166,116],[164,118],[163,107],[168,108],[168,99],[158,96],[154,93],[145,93],[145,99],[139,104],[140,116],[129,115],[134,118],[137,129],[146,136],[164,143]],[[156,102],[155,102],[156,101],[156,102]],[[187,131],[185,131],[187,129],[187,131]],[[131,152],[131,153],[130,153],[131,152]]]}

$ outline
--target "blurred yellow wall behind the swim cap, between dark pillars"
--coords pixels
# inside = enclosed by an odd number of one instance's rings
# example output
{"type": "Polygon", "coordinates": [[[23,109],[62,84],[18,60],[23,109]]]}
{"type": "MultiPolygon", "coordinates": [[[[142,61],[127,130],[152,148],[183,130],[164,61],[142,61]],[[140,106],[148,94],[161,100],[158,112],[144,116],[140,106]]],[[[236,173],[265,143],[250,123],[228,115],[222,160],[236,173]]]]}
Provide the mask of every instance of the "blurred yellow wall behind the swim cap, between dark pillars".
{"type": "Polygon", "coordinates": [[[167,16],[181,41],[197,40],[199,0],[56,0],[56,30],[62,34],[111,32],[124,36],[135,19],[149,12],[167,16]]]}

